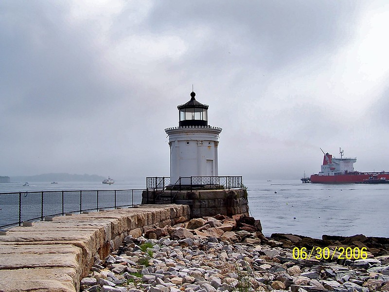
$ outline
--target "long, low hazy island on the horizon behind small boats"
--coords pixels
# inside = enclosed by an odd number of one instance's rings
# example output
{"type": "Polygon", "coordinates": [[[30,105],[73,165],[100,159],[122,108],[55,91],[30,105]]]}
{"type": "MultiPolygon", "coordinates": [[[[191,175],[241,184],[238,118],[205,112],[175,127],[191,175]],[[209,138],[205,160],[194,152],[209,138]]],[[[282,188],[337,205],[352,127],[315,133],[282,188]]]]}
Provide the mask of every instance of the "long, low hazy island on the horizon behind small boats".
{"type": "Polygon", "coordinates": [[[11,182],[102,182],[104,179],[106,178],[96,174],[44,173],[11,177],[11,182]]]}

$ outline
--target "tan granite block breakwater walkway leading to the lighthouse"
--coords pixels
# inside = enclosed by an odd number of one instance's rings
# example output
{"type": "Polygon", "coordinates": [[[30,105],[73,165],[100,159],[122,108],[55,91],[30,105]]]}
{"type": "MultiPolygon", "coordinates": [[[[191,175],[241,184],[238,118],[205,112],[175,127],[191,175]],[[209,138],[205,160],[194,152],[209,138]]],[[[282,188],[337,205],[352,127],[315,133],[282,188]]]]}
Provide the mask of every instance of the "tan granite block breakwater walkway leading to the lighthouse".
{"type": "Polygon", "coordinates": [[[144,205],[11,228],[0,236],[0,291],[78,291],[94,258],[105,258],[126,236],[189,218],[187,205],[144,205]]]}

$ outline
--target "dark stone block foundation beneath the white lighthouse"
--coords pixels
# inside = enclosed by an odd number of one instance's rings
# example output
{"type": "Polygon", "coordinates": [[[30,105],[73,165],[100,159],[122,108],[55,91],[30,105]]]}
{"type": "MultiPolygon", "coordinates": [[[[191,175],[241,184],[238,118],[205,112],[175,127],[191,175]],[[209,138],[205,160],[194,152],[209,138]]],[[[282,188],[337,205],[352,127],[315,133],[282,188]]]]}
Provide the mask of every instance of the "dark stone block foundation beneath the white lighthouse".
{"type": "MultiPolygon", "coordinates": [[[[231,217],[236,214],[248,215],[247,191],[236,190],[201,190],[201,191],[181,191],[177,192],[176,204],[186,204],[191,208],[191,218],[200,218],[205,216],[215,216],[217,214],[231,217]]],[[[142,204],[154,202],[154,191],[143,191],[142,204]],[[147,198],[148,195],[148,198],[147,198]]],[[[169,191],[166,191],[165,200],[161,202],[170,202],[169,191]]],[[[158,203],[158,202],[157,202],[158,203]]]]}

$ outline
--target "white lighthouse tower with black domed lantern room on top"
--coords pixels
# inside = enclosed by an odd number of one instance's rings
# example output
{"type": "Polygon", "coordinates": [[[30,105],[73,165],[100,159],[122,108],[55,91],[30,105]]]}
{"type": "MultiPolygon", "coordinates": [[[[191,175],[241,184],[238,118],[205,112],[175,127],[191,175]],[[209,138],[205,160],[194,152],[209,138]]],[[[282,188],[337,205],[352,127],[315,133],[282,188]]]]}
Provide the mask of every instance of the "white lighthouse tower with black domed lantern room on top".
{"type": "Polygon", "coordinates": [[[178,127],[166,128],[170,146],[170,184],[179,177],[218,176],[217,146],[222,128],[208,126],[208,105],[191,100],[177,106],[178,127]]]}

